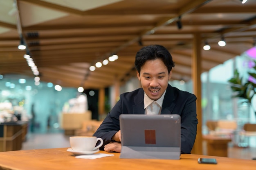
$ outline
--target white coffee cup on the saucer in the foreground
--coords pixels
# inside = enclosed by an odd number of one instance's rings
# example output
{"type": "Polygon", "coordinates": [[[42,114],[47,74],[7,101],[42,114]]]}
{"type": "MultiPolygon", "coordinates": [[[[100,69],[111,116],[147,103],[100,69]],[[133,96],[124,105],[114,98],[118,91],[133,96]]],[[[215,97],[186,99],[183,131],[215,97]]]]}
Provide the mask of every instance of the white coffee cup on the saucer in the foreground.
{"type": "Polygon", "coordinates": [[[103,140],[95,136],[71,136],[70,137],[70,146],[72,150],[76,151],[92,151],[103,145],[103,140]],[[100,143],[97,144],[97,142],[100,143]]]}

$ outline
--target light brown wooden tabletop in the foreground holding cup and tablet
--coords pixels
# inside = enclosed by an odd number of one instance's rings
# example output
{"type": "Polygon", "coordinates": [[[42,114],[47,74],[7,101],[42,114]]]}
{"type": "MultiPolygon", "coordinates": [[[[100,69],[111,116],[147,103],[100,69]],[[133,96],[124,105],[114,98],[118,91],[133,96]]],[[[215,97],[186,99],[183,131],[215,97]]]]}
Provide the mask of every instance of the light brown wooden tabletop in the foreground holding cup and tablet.
{"type": "MultiPolygon", "coordinates": [[[[256,161],[182,154],[180,160],[120,159],[115,156],[78,159],[67,148],[18,150],[0,153],[0,169],[4,170],[255,170],[256,161]],[[218,164],[199,164],[199,157],[216,158],[218,164]]],[[[100,151],[101,153],[106,153],[100,151]]]]}

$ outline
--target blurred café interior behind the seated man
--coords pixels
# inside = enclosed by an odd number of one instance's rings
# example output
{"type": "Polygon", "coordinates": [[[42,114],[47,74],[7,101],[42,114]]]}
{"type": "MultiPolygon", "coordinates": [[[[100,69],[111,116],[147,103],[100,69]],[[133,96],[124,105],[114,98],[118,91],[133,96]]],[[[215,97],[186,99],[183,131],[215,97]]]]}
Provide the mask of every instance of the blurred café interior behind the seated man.
{"type": "Polygon", "coordinates": [[[176,63],[169,84],[201,96],[203,154],[256,157],[255,9],[255,0],[0,1],[0,151],[92,135],[119,94],[140,87],[136,52],[160,44],[176,63]]]}

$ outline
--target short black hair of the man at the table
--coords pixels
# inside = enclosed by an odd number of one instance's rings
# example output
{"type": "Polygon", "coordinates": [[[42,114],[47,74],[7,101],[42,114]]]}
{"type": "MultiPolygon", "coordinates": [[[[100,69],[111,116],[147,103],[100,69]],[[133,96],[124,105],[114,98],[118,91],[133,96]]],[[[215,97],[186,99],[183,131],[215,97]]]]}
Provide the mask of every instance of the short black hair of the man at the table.
{"type": "Polygon", "coordinates": [[[172,68],[175,66],[173,62],[173,57],[170,52],[161,45],[150,45],[141,48],[135,57],[135,68],[140,74],[141,67],[148,60],[161,59],[166,65],[168,74],[171,72],[172,68]]]}

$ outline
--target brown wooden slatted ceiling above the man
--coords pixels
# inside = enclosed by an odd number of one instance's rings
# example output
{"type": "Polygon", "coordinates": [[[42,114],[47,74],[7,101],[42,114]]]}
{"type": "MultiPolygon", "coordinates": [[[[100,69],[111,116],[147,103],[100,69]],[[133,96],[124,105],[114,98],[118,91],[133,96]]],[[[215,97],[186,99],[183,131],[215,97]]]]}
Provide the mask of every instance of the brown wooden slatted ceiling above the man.
{"type": "Polygon", "coordinates": [[[125,83],[135,76],[136,52],[150,44],[168,48],[176,63],[172,78],[188,81],[194,33],[202,37],[198,46],[206,40],[211,45],[202,49],[202,72],[240,55],[255,43],[256,0],[4,0],[0,74],[34,77],[26,50],[17,48],[21,34],[41,81],[85,89],[125,83]],[[13,3],[19,13],[10,15],[13,3]],[[225,47],[218,46],[222,36],[225,47]],[[89,70],[112,54],[119,59],[89,70]]]}

